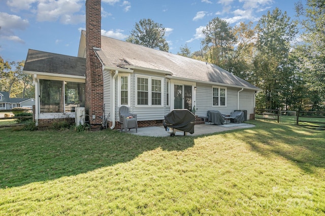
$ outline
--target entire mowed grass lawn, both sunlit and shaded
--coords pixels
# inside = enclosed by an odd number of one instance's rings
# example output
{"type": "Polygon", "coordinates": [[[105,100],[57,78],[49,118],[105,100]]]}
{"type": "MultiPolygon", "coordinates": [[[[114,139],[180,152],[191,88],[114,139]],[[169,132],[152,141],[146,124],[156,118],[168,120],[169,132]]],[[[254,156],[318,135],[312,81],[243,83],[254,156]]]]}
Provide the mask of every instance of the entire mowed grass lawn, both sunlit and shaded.
{"type": "Polygon", "coordinates": [[[325,132],[0,131],[0,215],[325,215],[325,132]]]}

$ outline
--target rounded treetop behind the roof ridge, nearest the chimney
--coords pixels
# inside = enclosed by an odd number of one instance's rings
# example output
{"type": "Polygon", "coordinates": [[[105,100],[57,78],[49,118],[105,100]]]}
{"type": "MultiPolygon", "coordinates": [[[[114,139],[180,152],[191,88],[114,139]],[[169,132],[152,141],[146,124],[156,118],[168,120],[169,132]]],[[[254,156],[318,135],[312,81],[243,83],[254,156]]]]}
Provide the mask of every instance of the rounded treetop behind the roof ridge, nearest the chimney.
{"type": "Polygon", "coordinates": [[[135,24],[135,29],[131,31],[131,35],[126,38],[126,41],[168,52],[169,46],[165,32],[166,28],[162,24],[151,19],[142,19],[135,24]]]}

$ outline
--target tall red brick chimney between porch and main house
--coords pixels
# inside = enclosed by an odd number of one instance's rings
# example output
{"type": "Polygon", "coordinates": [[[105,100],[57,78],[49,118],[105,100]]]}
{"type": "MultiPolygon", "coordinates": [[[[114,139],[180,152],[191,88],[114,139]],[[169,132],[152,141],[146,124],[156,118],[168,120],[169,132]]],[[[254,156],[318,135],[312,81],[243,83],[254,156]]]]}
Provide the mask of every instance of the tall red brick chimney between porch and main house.
{"type": "Polygon", "coordinates": [[[103,115],[103,69],[94,53],[94,48],[102,46],[101,19],[101,0],[86,0],[85,109],[92,125],[99,125],[103,115]]]}

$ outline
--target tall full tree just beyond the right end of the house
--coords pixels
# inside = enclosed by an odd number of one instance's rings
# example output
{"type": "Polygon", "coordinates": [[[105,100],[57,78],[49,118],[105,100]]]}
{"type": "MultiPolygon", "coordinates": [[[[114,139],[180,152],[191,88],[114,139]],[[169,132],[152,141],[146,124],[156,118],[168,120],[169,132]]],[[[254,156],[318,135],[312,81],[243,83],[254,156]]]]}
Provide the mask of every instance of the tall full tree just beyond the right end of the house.
{"type": "Polygon", "coordinates": [[[276,109],[283,106],[285,78],[290,70],[285,69],[289,58],[290,41],[297,34],[297,22],[291,21],[286,12],[278,8],[268,11],[258,21],[254,72],[257,86],[263,89],[259,99],[261,108],[276,109]]]}

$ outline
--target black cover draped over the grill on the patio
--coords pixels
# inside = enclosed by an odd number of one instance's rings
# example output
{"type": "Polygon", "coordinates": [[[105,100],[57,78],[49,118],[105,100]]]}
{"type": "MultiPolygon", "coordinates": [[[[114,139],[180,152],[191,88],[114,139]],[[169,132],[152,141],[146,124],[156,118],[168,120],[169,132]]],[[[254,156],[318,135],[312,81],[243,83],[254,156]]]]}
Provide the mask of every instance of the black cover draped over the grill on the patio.
{"type": "Polygon", "coordinates": [[[195,115],[187,109],[174,109],[165,116],[164,126],[194,133],[195,115]]]}

